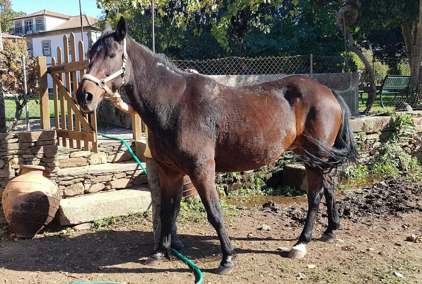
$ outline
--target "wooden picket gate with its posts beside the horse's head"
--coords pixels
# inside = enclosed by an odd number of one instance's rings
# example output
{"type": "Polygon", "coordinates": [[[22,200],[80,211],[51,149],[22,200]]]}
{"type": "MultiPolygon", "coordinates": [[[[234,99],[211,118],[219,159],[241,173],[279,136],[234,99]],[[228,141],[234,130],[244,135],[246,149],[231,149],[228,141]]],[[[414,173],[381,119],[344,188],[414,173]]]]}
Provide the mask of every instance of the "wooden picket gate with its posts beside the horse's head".
{"type": "MultiPolygon", "coordinates": [[[[56,130],[58,137],[57,145],[82,149],[83,142],[84,150],[90,150],[91,142],[92,152],[98,152],[97,115],[96,113],[93,113],[88,116],[87,114],[82,113],[75,95],[76,90],[78,89],[78,73],[80,78],[82,78],[89,64],[88,60],[85,59],[84,43],[81,40],[78,43],[78,57],[79,61],[76,60],[76,42],[73,32],[70,33],[70,52],[68,36],[64,35],[63,52],[60,46],[57,47],[57,62],[56,59],[52,57],[51,67],[47,68],[45,56],[38,56],[41,128],[51,128],[47,83],[47,74],[49,74],[53,79],[54,129],[56,130]],[[72,76],[73,82],[70,76],[72,76]],[[67,105],[67,110],[65,109],[65,104],[67,105]]],[[[132,115],[132,127],[133,138],[141,139],[141,118],[139,115],[132,115]]]]}

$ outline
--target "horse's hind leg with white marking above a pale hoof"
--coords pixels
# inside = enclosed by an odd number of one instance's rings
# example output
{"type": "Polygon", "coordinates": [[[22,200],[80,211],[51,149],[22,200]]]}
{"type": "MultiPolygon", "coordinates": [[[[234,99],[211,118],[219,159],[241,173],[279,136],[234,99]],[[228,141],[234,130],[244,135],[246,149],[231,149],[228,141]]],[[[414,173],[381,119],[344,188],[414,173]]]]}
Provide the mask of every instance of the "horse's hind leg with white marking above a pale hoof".
{"type": "Polygon", "coordinates": [[[308,214],[299,240],[289,252],[288,257],[291,258],[302,258],[306,255],[306,244],[312,239],[312,229],[324,194],[322,173],[306,167],[306,179],[308,180],[308,214]]]}

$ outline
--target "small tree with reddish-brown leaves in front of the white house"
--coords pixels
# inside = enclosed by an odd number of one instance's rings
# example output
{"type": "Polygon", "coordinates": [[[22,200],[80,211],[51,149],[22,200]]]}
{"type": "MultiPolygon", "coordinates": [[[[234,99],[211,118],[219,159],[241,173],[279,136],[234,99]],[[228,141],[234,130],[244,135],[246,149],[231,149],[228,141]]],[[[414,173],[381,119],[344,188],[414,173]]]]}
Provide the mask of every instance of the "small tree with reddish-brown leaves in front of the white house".
{"type": "Polygon", "coordinates": [[[3,81],[3,92],[16,104],[13,129],[19,121],[26,102],[24,90],[23,65],[26,70],[28,93],[38,92],[36,58],[28,56],[25,40],[3,39],[3,50],[0,51],[0,75],[3,81]],[[23,62],[22,62],[23,57],[23,62]]]}

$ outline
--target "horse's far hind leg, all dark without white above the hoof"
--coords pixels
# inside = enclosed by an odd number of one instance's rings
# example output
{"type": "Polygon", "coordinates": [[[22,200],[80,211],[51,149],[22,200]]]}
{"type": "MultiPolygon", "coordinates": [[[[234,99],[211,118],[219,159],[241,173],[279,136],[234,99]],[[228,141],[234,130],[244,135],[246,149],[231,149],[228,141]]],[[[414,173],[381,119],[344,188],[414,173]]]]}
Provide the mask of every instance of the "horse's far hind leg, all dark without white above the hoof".
{"type": "Polygon", "coordinates": [[[335,239],[335,230],[340,227],[337,203],[335,201],[334,179],[332,175],[325,174],[322,184],[324,186],[325,202],[327,202],[328,227],[319,240],[330,243],[335,239]]]}

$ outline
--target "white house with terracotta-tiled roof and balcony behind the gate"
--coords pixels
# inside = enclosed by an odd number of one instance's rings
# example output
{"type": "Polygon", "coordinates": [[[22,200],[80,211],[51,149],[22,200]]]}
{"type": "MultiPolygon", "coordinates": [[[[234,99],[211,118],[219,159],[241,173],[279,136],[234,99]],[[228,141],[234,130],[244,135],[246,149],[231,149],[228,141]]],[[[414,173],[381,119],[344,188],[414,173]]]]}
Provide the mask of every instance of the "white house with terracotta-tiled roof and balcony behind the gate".
{"type": "MultiPolygon", "coordinates": [[[[81,40],[81,18],[80,16],[69,16],[62,13],[41,10],[29,15],[15,18],[13,21],[13,30],[10,32],[13,35],[24,36],[28,51],[32,56],[44,55],[47,58],[47,65],[51,65],[51,56],[56,58],[57,62],[57,47],[60,46],[63,50],[63,35],[67,35],[70,39],[70,33],[75,34],[76,46],[81,40]]],[[[84,30],[84,51],[85,54],[89,47],[101,35],[101,30],[95,25],[98,19],[82,15],[82,26],[84,30]]],[[[70,40],[69,51],[70,51],[70,40]]],[[[83,60],[76,56],[76,60],[83,60]]],[[[64,59],[62,59],[64,62],[64,59]]],[[[69,60],[72,61],[71,56],[69,60]]],[[[80,78],[79,78],[80,79],[80,78]]],[[[53,83],[51,77],[48,76],[49,88],[52,88],[53,83]]]]}

